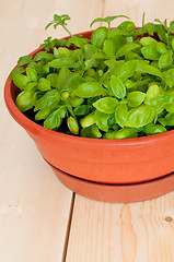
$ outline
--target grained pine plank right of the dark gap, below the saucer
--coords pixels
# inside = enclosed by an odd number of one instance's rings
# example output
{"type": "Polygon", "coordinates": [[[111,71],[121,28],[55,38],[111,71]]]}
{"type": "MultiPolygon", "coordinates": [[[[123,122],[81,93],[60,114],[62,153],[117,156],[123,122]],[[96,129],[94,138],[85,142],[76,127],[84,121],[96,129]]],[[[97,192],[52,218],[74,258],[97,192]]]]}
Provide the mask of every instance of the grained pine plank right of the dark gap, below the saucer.
{"type": "Polygon", "coordinates": [[[76,196],[66,262],[172,262],[174,192],[109,204],[76,196]]]}

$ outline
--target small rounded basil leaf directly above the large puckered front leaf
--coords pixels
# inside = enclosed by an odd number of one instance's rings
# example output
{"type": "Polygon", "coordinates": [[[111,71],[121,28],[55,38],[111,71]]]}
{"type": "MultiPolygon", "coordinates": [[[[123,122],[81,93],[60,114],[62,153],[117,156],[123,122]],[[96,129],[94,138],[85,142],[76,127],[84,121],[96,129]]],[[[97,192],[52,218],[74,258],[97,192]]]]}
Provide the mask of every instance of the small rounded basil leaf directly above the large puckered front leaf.
{"type": "Polygon", "coordinates": [[[146,94],[140,91],[132,91],[127,95],[127,102],[131,107],[138,107],[144,100],[146,94]]]}

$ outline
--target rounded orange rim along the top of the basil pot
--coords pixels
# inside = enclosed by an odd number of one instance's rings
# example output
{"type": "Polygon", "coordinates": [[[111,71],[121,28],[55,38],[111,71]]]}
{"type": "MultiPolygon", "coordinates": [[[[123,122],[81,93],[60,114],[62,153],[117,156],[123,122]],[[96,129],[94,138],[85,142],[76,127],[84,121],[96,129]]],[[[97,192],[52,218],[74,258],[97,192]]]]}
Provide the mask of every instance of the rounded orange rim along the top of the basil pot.
{"type": "MultiPolygon", "coordinates": [[[[91,34],[93,31],[86,31],[82,33],[74,34],[77,35],[85,35],[91,34]]],[[[63,37],[62,39],[68,39],[68,37],[63,37]]],[[[37,48],[34,51],[32,51],[30,55],[35,56],[38,51],[43,50],[43,48],[37,48]]],[[[16,68],[15,66],[14,68],[16,68]]],[[[140,138],[132,138],[132,139],[121,139],[121,140],[107,140],[107,139],[90,139],[90,138],[82,138],[82,136],[76,136],[71,134],[63,134],[57,131],[49,130],[45,127],[42,127],[37,124],[36,122],[32,121],[27,117],[22,114],[18,107],[15,106],[15,103],[11,95],[11,88],[12,88],[12,81],[10,79],[10,74],[5,81],[4,84],[4,100],[5,105],[8,107],[9,112],[14,118],[14,120],[22,126],[26,131],[37,134],[40,138],[47,136],[47,139],[56,139],[56,140],[63,140],[63,141],[73,141],[74,143],[88,143],[88,144],[95,144],[101,146],[115,146],[115,145],[138,145],[138,144],[148,144],[148,143],[155,143],[155,142],[162,142],[165,140],[169,140],[169,138],[174,138],[174,130],[170,130],[163,133],[159,134],[152,134],[149,136],[140,136],[140,138]]]]}

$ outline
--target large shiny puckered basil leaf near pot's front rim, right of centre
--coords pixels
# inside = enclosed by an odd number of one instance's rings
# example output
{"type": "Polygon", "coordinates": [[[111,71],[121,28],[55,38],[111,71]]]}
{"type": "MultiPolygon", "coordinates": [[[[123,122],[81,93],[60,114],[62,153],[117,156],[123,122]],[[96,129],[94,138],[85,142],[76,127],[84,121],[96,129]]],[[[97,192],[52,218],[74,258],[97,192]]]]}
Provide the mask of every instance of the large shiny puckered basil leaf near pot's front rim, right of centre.
{"type": "Polygon", "coordinates": [[[139,107],[132,108],[128,112],[128,118],[125,127],[140,128],[143,127],[154,119],[154,110],[152,107],[141,105],[139,107]]]}

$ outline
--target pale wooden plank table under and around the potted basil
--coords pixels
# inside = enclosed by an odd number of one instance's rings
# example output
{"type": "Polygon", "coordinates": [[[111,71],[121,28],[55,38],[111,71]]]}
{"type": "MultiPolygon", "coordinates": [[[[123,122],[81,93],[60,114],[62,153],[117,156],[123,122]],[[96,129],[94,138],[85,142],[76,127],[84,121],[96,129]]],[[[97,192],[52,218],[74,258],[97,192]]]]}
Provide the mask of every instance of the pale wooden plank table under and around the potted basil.
{"type": "MultiPolygon", "coordinates": [[[[54,13],[71,16],[72,33],[96,16],[127,14],[137,25],[174,19],[172,0],[5,0],[0,2],[0,81],[19,57],[46,37],[54,13]]],[[[113,23],[116,25],[117,23],[113,23]]],[[[174,192],[132,204],[109,204],[77,195],[46,165],[0,95],[1,262],[173,262],[174,192]]]]}

